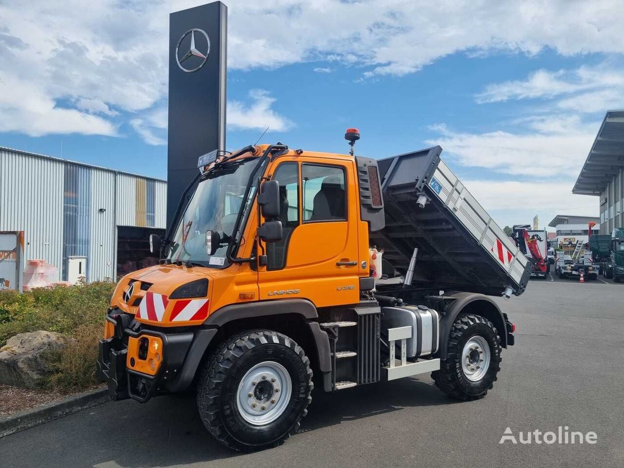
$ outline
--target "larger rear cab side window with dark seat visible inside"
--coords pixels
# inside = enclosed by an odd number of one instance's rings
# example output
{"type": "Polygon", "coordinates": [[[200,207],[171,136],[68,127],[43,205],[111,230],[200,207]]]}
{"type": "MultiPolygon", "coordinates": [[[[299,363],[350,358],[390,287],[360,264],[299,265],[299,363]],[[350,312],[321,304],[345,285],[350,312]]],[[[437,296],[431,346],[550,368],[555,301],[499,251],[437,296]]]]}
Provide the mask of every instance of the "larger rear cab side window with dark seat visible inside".
{"type": "Polygon", "coordinates": [[[303,221],[346,220],[344,168],[319,164],[301,165],[303,221]]]}

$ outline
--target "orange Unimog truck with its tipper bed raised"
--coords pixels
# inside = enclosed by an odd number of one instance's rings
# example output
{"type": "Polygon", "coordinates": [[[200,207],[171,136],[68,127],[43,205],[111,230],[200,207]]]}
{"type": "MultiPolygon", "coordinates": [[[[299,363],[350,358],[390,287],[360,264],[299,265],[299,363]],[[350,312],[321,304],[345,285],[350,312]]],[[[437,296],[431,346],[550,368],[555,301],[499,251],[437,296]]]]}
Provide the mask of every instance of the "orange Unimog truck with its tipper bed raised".
{"type": "MultiPolygon", "coordinates": [[[[208,431],[236,450],[295,431],[313,386],[431,373],[485,396],[515,326],[489,296],[531,266],[440,159],[286,145],[200,157],[159,265],[124,276],[99,344],[113,399],[197,388],[208,431]],[[192,193],[191,193],[192,192],[192,193]]],[[[417,398],[414,395],[414,398],[417,398]]]]}

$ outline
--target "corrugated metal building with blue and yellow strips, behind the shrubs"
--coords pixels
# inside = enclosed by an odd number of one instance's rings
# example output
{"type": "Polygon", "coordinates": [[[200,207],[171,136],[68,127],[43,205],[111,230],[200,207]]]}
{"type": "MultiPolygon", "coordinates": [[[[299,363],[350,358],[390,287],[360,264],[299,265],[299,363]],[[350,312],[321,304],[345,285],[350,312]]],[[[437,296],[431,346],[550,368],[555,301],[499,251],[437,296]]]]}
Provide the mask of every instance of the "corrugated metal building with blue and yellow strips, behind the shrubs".
{"type": "Polygon", "coordinates": [[[86,258],[87,281],[151,263],[166,200],[165,180],[0,147],[0,231],[24,231],[27,260],[57,266],[59,280],[71,257],[86,258]]]}

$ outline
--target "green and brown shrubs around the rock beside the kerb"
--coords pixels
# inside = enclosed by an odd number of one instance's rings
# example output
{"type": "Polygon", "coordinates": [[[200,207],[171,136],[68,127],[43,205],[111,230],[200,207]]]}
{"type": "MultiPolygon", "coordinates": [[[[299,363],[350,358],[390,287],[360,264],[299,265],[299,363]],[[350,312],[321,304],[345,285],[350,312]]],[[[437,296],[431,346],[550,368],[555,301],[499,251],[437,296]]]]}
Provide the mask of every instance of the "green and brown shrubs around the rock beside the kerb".
{"type": "Polygon", "coordinates": [[[112,281],[24,293],[0,290],[0,346],[18,333],[56,331],[74,338],[62,351],[49,352],[47,388],[80,391],[97,384],[95,359],[104,316],[115,288],[112,281]]]}

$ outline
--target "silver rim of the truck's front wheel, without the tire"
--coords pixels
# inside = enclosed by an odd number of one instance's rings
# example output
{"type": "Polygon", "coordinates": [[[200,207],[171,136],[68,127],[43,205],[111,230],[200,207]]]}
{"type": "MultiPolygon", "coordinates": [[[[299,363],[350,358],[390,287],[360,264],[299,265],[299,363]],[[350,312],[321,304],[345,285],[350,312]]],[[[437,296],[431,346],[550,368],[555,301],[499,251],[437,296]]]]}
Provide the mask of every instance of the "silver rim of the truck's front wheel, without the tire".
{"type": "Polygon", "coordinates": [[[249,369],[238,384],[236,404],[240,415],[254,426],[275,421],[288,407],[293,384],[286,368],[265,361],[249,369]]]}

